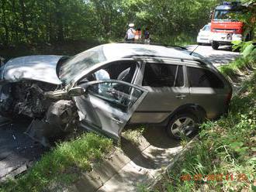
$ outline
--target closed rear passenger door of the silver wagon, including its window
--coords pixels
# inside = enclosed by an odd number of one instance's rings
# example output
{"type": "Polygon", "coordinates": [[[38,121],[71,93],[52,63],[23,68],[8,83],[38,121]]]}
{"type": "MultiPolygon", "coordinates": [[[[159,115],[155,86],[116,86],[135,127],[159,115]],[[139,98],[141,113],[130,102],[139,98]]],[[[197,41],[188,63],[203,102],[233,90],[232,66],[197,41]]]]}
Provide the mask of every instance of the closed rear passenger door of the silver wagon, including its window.
{"type": "Polygon", "coordinates": [[[160,123],[185,105],[189,87],[180,60],[147,60],[140,84],[149,92],[131,118],[131,123],[160,123]]]}

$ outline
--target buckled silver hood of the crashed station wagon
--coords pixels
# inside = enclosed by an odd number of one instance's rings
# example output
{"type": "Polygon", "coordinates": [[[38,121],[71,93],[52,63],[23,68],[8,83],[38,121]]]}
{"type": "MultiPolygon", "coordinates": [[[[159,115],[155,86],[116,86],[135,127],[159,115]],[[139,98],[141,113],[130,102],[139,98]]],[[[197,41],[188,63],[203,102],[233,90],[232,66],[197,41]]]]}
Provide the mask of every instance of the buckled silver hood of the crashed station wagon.
{"type": "Polygon", "coordinates": [[[62,84],[56,73],[57,63],[61,57],[63,56],[37,55],[14,58],[2,66],[1,79],[12,82],[29,79],[62,84]]]}

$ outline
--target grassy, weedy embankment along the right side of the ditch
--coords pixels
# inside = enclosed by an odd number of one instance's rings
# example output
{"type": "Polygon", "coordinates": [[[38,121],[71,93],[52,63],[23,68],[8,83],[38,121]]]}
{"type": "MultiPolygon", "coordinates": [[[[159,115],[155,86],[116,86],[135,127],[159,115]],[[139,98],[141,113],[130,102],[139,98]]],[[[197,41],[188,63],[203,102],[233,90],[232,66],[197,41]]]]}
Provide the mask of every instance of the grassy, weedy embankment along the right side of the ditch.
{"type": "MultiPolygon", "coordinates": [[[[256,190],[256,49],[220,71],[233,81],[253,73],[231,100],[227,116],[201,126],[199,139],[153,191],[256,190]]],[[[141,188],[143,191],[147,191],[141,188]]]]}

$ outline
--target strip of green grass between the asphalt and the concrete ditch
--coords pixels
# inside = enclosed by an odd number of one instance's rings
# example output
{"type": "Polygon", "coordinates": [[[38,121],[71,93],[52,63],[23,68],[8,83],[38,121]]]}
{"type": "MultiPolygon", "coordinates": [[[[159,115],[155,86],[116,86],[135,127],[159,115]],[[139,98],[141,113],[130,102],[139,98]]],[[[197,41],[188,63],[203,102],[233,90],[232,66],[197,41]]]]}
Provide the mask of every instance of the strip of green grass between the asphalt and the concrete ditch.
{"type": "Polygon", "coordinates": [[[0,191],[43,191],[53,185],[68,186],[92,170],[112,150],[112,140],[94,133],[58,144],[43,155],[27,173],[0,185],[0,191]]]}

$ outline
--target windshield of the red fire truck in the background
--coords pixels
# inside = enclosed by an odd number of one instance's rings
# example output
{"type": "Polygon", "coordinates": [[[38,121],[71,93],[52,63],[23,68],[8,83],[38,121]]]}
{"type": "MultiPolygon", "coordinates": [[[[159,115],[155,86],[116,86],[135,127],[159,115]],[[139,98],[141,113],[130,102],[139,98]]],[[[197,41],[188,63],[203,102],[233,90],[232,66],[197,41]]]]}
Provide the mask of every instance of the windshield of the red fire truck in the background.
{"type": "Polygon", "coordinates": [[[239,19],[240,12],[232,10],[216,10],[213,20],[215,21],[237,21],[239,19]]]}

